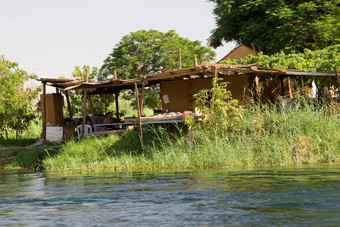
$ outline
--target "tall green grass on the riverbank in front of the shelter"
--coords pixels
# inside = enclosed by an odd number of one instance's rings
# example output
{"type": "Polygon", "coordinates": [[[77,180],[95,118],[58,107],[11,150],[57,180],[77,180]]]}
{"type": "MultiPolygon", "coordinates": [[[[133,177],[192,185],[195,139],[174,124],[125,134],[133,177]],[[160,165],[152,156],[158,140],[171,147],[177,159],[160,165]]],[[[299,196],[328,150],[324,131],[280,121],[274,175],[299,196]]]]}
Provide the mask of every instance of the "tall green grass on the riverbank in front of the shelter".
{"type": "Polygon", "coordinates": [[[249,105],[237,123],[217,134],[195,128],[190,142],[181,130],[171,138],[149,130],[145,144],[142,152],[135,131],[69,142],[42,165],[52,172],[110,172],[338,162],[340,117],[333,107],[249,105]]]}

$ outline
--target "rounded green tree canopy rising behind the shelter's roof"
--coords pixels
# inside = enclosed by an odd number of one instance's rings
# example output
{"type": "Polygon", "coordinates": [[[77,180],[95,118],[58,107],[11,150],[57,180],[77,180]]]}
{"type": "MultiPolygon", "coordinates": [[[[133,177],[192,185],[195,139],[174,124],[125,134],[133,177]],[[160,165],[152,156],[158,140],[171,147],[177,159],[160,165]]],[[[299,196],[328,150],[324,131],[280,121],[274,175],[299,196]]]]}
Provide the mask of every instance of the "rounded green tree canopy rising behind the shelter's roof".
{"type": "Polygon", "coordinates": [[[202,46],[200,41],[180,37],[174,30],[140,30],[124,36],[113,48],[101,67],[101,75],[112,75],[116,69],[121,78],[178,68],[178,49],[181,49],[182,67],[193,66],[193,58],[211,61],[215,52],[202,46]]]}

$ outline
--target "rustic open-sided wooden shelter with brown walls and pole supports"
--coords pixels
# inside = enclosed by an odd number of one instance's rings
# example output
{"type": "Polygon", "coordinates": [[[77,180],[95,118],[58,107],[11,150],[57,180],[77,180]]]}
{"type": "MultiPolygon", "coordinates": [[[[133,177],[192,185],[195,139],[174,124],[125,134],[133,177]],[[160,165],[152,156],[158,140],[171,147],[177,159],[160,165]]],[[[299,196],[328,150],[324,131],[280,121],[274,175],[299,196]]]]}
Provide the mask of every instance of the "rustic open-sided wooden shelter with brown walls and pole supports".
{"type": "MultiPolygon", "coordinates": [[[[231,90],[233,98],[242,100],[244,95],[252,94],[254,96],[260,97],[259,92],[259,77],[277,77],[279,78],[279,85],[274,86],[274,90],[271,90],[270,86],[263,86],[263,94],[261,98],[270,99],[275,95],[288,95],[290,98],[293,97],[292,85],[290,83],[290,78],[295,76],[336,76],[335,72],[304,72],[301,70],[284,70],[273,68],[270,70],[262,69],[254,64],[251,65],[224,65],[224,64],[213,64],[213,63],[203,63],[192,68],[175,69],[166,72],[155,73],[151,75],[141,76],[136,79],[123,80],[117,77],[112,80],[107,81],[88,81],[86,76],[85,80],[79,80],[77,78],[40,78],[39,81],[43,84],[43,94],[42,94],[42,114],[43,114],[43,132],[42,137],[46,139],[46,126],[47,122],[47,106],[56,105],[50,102],[48,95],[46,95],[46,85],[55,87],[58,89],[63,89],[66,95],[66,102],[69,107],[68,90],[82,90],[84,91],[84,109],[83,109],[83,122],[82,126],[84,129],[85,119],[86,119],[86,108],[87,101],[89,101],[90,108],[91,95],[94,94],[115,94],[116,96],[116,113],[117,118],[119,118],[119,104],[118,104],[118,94],[126,89],[135,89],[137,98],[137,112],[138,118],[135,122],[141,129],[143,121],[148,121],[152,123],[152,120],[160,121],[157,117],[155,118],[143,118],[141,113],[143,110],[143,94],[144,89],[147,86],[153,84],[160,84],[161,89],[161,99],[162,99],[162,111],[170,112],[183,112],[186,110],[194,111],[194,100],[192,95],[204,88],[212,87],[213,78],[223,78],[224,81],[231,82],[228,87],[231,90]],[[141,100],[138,100],[138,89],[141,88],[141,100]],[[251,92],[249,92],[251,91],[251,92]]],[[[57,95],[59,96],[59,95],[57,95]]],[[[57,97],[56,96],[56,97],[57,97]]],[[[60,96],[59,96],[60,97],[60,96]]],[[[60,99],[60,98],[59,98],[60,99]]],[[[72,117],[72,113],[69,109],[69,115],[72,117]]],[[[54,111],[57,111],[54,108],[54,111]]],[[[55,114],[57,115],[57,114],[55,114]]],[[[93,111],[92,111],[93,115],[93,111]]],[[[166,118],[171,119],[171,117],[166,118]]],[[[181,116],[173,117],[173,119],[180,120],[181,116]]],[[[83,130],[84,131],[84,130],[83,130]]],[[[142,136],[142,130],[140,130],[142,136]]]]}

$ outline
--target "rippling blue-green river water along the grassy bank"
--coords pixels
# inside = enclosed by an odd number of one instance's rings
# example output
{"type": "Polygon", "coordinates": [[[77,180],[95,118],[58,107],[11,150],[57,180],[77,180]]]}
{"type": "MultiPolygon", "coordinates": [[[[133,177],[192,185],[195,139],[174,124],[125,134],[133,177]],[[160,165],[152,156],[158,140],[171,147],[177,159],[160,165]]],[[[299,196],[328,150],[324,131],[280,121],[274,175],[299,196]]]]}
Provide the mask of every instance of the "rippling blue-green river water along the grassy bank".
{"type": "Polygon", "coordinates": [[[0,226],[340,225],[340,165],[0,174],[0,226]]]}

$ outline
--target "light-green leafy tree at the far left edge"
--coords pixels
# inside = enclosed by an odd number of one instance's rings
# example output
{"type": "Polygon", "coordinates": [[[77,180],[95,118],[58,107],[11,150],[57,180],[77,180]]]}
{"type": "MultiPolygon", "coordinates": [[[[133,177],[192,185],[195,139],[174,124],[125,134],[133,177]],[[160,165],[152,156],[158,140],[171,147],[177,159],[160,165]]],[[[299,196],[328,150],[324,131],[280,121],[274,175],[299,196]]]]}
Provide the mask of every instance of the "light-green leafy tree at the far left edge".
{"type": "Polygon", "coordinates": [[[40,88],[25,88],[28,80],[36,78],[20,69],[18,63],[0,56],[0,128],[6,137],[7,128],[15,130],[18,136],[37,117],[33,101],[40,88]]]}

